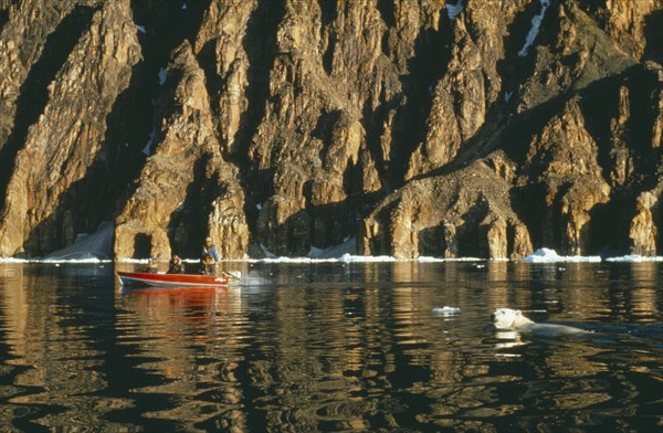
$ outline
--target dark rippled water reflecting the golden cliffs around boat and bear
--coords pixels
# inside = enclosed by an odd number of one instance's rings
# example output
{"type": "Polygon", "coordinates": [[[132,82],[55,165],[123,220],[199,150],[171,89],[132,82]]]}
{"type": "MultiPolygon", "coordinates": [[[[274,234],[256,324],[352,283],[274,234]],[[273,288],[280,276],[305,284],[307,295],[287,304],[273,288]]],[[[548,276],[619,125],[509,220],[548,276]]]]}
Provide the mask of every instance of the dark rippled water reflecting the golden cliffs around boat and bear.
{"type": "Polygon", "coordinates": [[[481,265],[120,291],[113,264],[0,264],[0,430],[662,429],[662,264],[481,265]],[[498,338],[495,307],[596,332],[498,338]]]}

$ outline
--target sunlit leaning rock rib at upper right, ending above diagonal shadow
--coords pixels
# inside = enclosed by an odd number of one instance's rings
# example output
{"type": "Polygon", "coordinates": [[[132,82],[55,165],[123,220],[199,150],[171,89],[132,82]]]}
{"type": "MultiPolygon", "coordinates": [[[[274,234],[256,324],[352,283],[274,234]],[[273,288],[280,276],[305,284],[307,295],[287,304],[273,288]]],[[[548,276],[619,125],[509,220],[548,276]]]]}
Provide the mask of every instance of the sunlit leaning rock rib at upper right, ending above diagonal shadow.
{"type": "Polygon", "coordinates": [[[485,123],[488,108],[503,92],[497,71],[506,55],[503,39],[522,10],[517,3],[485,8],[481,2],[469,2],[452,22],[451,60],[431,92],[427,136],[412,155],[406,179],[452,161],[485,123]]]}

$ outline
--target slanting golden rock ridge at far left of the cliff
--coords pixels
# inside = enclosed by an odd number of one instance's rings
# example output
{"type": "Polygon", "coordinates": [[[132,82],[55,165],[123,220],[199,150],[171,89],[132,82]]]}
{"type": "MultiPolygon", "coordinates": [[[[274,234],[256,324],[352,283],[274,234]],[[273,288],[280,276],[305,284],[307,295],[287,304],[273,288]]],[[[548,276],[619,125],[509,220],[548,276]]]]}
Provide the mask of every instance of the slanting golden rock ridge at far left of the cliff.
{"type": "Polygon", "coordinates": [[[61,200],[95,157],[103,158],[105,117],[139,59],[129,2],[105,2],[49,85],[45,109],[15,157],[0,215],[0,255],[42,254],[61,245],[67,210],[61,200]]]}

